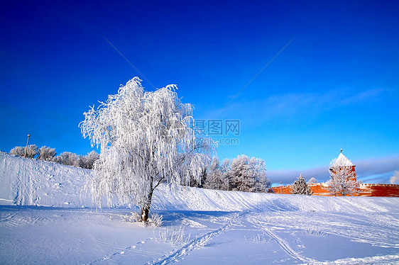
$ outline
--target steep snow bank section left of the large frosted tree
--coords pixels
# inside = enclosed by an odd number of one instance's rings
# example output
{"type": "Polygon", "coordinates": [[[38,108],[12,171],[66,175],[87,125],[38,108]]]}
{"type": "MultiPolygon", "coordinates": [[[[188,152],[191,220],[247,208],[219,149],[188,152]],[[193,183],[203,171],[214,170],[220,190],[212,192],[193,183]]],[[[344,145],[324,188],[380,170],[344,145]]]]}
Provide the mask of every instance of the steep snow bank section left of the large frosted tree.
{"type": "Polygon", "coordinates": [[[92,206],[80,193],[90,170],[0,153],[0,201],[16,205],[92,206]]]}

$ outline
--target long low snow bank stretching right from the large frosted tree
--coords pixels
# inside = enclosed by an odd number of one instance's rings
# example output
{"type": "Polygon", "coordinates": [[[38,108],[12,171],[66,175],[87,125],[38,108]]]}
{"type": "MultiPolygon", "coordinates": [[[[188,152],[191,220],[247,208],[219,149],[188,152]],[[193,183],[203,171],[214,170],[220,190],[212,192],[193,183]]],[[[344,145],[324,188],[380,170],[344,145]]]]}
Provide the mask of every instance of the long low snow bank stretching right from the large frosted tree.
{"type": "Polygon", "coordinates": [[[154,197],[152,207],[156,210],[344,213],[399,210],[399,198],[302,196],[168,186],[159,186],[154,197]]]}

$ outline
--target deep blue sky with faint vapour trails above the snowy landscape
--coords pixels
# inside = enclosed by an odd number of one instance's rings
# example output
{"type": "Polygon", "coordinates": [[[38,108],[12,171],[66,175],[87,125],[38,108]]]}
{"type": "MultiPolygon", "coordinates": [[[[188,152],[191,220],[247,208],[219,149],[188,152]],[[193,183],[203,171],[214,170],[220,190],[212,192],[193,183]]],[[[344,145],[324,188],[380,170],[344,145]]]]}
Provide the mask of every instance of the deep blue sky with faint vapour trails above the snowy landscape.
{"type": "Polygon", "coordinates": [[[199,120],[240,120],[221,159],[328,178],[342,148],[359,179],[399,171],[399,4],[377,1],[4,1],[0,150],[87,154],[89,105],[138,76],[177,84],[199,120]]]}

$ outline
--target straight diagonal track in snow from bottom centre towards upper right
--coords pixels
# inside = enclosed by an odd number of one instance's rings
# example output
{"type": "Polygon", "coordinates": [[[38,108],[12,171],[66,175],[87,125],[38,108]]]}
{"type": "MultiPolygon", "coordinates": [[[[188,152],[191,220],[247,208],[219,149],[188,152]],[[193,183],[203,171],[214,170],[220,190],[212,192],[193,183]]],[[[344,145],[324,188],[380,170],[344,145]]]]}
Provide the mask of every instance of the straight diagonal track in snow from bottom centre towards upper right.
{"type": "Polygon", "coordinates": [[[152,261],[148,262],[148,265],[164,265],[164,264],[170,264],[174,263],[180,260],[182,256],[188,255],[188,252],[192,252],[195,249],[199,249],[200,247],[204,247],[207,242],[209,242],[210,239],[217,237],[218,235],[221,235],[222,233],[226,232],[226,230],[229,230],[229,227],[234,225],[236,222],[239,222],[241,220],[243,213],[236,214],[234,215],[231,220],[229,220],[228,223],[225,225],[222,225],[222,227],[219,227],[217,230],[213,230],[211,232],[207,232],[206,234],[196,237],[195,239],[192,239],[190,242],[185,244],[185,246],[180,247],[177,249],[175,252],[172,254],[169,254],[168,256],[164,256],[163,258],[158,259],[158,261],[152,261]]]}

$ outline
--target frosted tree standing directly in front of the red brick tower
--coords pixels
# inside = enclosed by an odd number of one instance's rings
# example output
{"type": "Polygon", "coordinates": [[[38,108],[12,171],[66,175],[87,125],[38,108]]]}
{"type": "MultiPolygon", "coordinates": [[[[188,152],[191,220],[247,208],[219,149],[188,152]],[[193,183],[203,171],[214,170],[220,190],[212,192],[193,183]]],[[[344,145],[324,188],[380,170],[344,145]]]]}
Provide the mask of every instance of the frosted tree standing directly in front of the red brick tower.
{"type": "Polygon", "coordinates": [[[329,164],[331,179],[327,181],[327,189],[333,196],[353,196],[359,192],[354,170],[351,166],[342,164],[341,160],[333,159],[329,164]]]}

